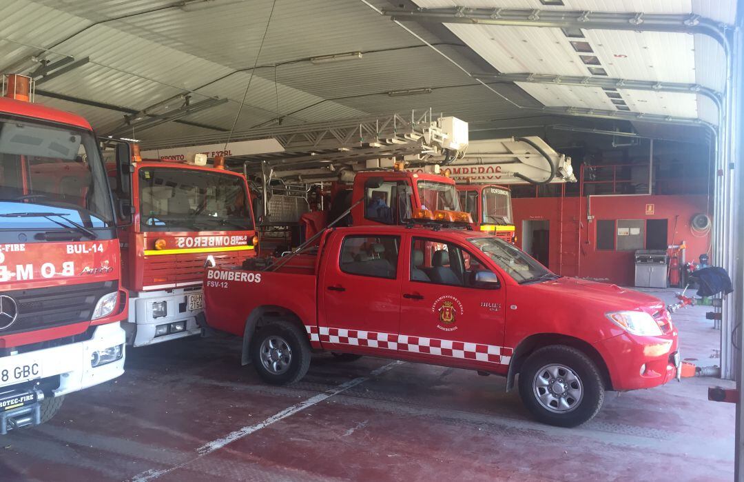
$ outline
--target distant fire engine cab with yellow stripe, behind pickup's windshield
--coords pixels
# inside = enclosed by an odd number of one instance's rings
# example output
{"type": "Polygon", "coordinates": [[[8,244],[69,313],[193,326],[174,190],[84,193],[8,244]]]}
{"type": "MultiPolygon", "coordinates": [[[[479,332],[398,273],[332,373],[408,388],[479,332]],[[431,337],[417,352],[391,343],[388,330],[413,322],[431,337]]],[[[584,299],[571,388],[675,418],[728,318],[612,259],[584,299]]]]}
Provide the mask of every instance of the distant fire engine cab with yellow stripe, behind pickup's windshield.
{"type": "Polygon", "coordinates": [[[458,184],[460,206],[472,218],[472,227],[513,243],[514,218],[509,188],[493,184],[458,184]]]}

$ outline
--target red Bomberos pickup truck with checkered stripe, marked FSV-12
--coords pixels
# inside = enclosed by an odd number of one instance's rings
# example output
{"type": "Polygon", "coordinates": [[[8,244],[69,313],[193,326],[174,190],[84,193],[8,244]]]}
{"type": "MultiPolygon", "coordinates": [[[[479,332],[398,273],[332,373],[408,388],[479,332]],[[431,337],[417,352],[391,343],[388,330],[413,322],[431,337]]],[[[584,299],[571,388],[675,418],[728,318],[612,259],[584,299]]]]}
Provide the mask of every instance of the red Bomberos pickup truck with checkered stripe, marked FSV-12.
{"type": "Polygon", "coordinates": [[[271,384],[300,380],[320,350],[437,364],[504,375],[507,390],[516,379],[536,419],[572,427],[606,390],[655,387],[679,367],[661,300],[557,276],[481,232],[344,227],[313,250],[278,269],[205,271],[204,323],[242,336],[243,364],[271,384]]]}

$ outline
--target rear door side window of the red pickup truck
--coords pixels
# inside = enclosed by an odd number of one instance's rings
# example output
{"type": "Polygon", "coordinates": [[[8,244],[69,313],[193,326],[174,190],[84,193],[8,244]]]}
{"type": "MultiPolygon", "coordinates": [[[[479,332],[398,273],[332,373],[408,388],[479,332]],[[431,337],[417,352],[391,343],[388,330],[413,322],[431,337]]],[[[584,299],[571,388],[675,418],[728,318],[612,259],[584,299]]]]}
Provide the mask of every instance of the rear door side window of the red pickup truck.
{"type": "Polygon", "coordinates": [[[347,236],[341,244],[339,268],[344,273],[395,279],[398,236],[347,236]]]}

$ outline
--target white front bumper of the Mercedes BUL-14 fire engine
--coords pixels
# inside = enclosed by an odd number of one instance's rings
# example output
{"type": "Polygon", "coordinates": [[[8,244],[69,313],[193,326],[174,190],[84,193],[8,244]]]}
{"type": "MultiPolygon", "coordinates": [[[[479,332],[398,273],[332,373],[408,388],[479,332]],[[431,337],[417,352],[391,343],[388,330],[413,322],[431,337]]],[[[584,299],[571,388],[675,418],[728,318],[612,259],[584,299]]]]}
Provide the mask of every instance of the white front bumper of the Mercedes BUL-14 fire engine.
{"type": "Polygon", "coordinates": [[[0,434],[38,425],[43,399],[77,392],[124,373],[120,323],[95,326],[89,340],[0,357],[0,434]]]}

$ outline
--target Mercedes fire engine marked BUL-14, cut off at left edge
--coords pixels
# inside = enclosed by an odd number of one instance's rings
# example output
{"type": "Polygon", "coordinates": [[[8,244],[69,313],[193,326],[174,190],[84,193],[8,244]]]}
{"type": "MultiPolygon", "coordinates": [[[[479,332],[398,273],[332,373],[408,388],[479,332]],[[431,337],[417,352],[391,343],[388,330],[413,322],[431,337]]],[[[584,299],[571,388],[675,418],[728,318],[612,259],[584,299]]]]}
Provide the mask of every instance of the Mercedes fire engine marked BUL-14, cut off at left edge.
{"type": "MultiPolygon", "coordinates": [[[[0,98],[0,434],[51,419],[68,393],[124,372],[127,293],[106,171],[89,123],[0,98]]],[[[117,159],[129,148],[118,146],[117,159]]],[[[118,181],[127,188],[121,169],[118,181]]]]}

